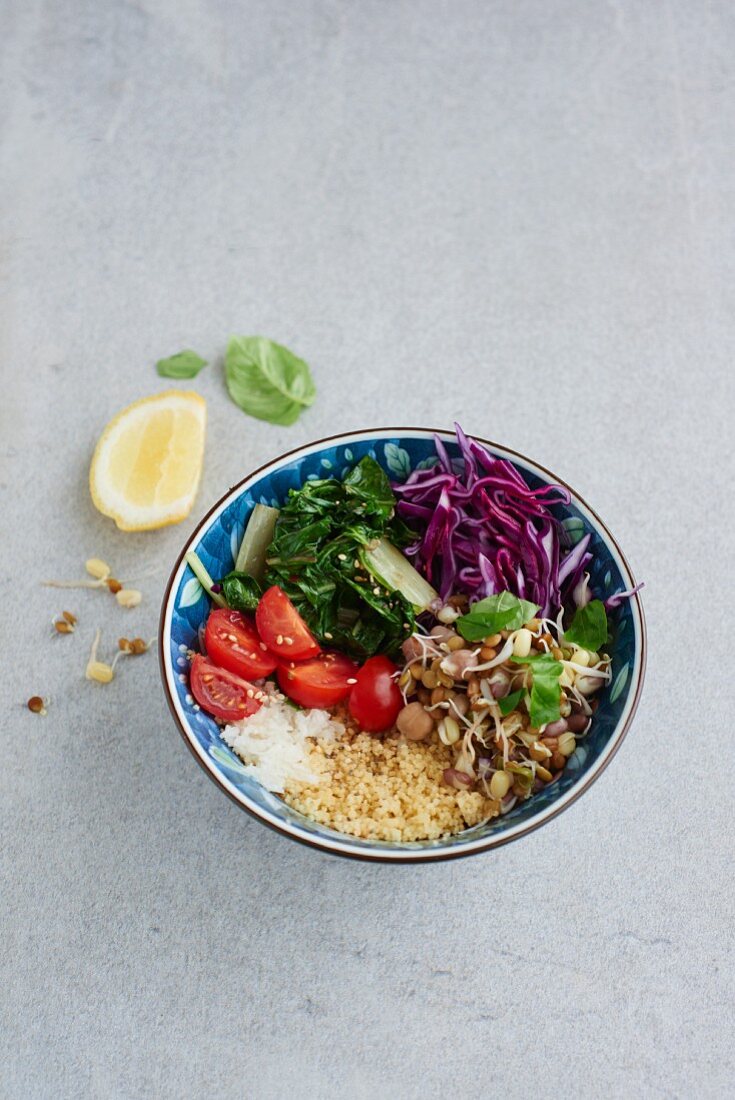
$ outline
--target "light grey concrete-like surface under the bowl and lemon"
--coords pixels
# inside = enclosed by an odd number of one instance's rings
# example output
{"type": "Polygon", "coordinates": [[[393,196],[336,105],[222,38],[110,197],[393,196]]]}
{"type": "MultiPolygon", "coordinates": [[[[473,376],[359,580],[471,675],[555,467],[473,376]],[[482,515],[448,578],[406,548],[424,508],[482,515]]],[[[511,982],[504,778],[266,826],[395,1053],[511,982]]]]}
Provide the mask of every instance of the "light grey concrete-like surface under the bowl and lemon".
{"type": "Polygon", "coordinates": [[[0,6],[3,1097],[732,1096],[734,48],[717,0],[0,6]],[[296,426],[228,400],[230,331],[312,364],[296,426]],[[91,449],[185,345],[195,513],[125,536],[91,449]],[[206,779],[152,658],[100,689],[87,647],[155,631],[255,464],[454,417],[646,579],[639,715],[518,844],[321,857],[206,779]],[[91,553],[157,571],[140,608],[40,586],[91,553]]]}

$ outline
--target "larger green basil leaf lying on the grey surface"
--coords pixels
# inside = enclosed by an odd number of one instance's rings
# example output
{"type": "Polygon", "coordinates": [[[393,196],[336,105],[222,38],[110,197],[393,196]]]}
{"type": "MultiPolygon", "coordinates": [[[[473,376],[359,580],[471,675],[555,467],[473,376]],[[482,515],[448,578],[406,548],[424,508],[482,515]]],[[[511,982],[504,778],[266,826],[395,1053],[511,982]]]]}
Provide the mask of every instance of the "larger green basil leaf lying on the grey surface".
{"type": "Polygon", "coordinates": [[[304,360],[265,337],[230,337],[224,377],[234,404],[270,424],[294,424],[317,393],[304,360]]]}

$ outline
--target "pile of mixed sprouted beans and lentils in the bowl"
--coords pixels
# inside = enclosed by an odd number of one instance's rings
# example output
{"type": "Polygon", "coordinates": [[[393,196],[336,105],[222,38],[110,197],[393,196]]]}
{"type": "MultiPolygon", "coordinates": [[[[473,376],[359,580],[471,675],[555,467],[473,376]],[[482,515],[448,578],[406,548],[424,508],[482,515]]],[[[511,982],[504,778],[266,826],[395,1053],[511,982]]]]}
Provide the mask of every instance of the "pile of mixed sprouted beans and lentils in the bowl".
{"type": "Polygon", "coordinates": [[[457,790],[481,791],[507,813],[566,768],[589,730],[590,696],[610,683],[611,659],[561,647],[560,622],[553,619],[534,618],[474,646],[452,629],[454,620],[447,614],[430,635],[419,628],[404,642],[406,663],[398,683],[406,706],[398,728],[423,739],[430,733],[429,721],[436,723],[439,739],[454,751],[445,782],[457,790]],[[549,653],[562,666],[560,717],[541,728],[530,722],[531,673],[512,660],[534,653],[549,653]],[[503,714],[503,698],[518,690],[518,702],[503,714]],[[482,765],[475,768],[476,758],[482,765]]]}

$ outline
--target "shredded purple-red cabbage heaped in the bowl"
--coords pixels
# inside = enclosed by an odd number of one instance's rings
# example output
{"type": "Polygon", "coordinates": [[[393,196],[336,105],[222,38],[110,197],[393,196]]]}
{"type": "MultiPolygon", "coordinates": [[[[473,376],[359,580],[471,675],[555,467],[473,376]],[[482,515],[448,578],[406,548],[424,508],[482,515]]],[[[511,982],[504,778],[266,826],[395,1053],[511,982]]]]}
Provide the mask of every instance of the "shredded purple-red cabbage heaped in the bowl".
{"type": "MultiPolygon", "coordinates": [[[[569,504],[569,493],[560,485],[531,490],[511,462],[454,428],[459,462],[435,437],[437,464],[393,485],[398,515],[423,532],[404,552],[442,600],[457,592],[481,600],[507,591],[538,604],[545,617],[566,604],[586,603],[591,536],[570,549],[549,512],[552,504],[569,504]]],[[[616,593],[607,606],[633,592],[616,593]]]]}

